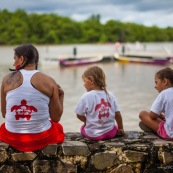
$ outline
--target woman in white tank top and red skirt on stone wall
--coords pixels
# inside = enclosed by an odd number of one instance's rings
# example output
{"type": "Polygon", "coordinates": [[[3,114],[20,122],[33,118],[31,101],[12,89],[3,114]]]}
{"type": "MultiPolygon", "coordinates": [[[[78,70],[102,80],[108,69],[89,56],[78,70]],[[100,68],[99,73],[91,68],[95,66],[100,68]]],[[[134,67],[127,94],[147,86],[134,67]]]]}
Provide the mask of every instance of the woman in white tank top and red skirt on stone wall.
{"type": "Polygon", "coordinates": [[[50,76],[37,70],[39,53],[31,44],[14,49],[14,66],[1,84],[0,140],[27,152],[64,141],[59,123],[64,91],[50,76]]]}

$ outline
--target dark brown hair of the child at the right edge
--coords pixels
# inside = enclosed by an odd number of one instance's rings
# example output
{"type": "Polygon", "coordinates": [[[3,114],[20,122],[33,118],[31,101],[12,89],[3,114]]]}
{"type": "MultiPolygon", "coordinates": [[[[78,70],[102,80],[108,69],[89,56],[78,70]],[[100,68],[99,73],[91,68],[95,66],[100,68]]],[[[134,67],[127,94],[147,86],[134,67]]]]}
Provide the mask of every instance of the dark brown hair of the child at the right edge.
{"type": "Polygon", "coordinates": [[[156,75],[159,79],[163,80],[164,78],[169,79],[171,84],[173,85],[173,70],[169,67],[166,67],[162,70],[159,70],[156,75]]]}

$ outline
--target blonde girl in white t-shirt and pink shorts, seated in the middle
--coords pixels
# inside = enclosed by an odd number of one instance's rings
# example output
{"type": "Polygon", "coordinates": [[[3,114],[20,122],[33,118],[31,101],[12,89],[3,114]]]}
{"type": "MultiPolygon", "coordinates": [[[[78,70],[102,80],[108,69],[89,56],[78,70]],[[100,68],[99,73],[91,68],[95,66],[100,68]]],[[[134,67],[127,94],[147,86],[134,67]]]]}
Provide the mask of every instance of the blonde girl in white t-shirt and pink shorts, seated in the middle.
{"type": "Polygon", "coordinates": [[[92,140],[113,138],[125,134],[122,116],[115,96],[106,90],[105,74],[98,67],[88,68],[82,75],[84,93],[75,113],[84,124],[81,133],[92,140]]]}

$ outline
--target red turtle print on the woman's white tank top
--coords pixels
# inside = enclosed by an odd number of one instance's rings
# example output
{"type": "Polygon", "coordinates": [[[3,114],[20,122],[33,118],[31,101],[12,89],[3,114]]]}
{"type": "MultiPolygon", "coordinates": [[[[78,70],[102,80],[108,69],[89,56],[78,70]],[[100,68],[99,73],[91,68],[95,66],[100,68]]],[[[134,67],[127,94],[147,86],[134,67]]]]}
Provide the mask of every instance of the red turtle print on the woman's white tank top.
{"type": "Polygon", "coordinates": [[[19,120],[20,118],[26,118],[27,120],[30,120],[32,111],[37,112],[37,109],[34,106],[28,106],[26,100],[21,101],[21,105],[14,105],[11,108],[11,112],[16,112],[16,120],[19,120]]]}

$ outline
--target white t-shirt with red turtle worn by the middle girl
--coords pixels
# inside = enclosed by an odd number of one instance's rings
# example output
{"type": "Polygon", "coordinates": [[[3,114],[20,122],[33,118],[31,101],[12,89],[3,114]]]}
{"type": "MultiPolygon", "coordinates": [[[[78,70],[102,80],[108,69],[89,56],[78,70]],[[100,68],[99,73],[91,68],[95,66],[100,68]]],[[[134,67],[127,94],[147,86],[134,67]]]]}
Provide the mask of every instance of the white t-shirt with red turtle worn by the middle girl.
{"type": "Polygon", "coordinates": [[[85,132],[90,137],[98,137],[115,126],[115,112],[119,107],[115,96],[104,90],[92,90],[83,94],[75,113],[86,116],[85,132]]]}

